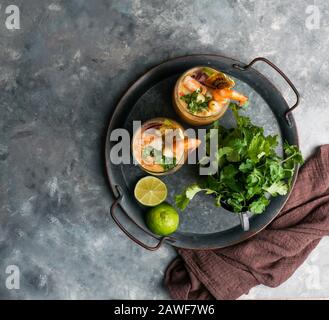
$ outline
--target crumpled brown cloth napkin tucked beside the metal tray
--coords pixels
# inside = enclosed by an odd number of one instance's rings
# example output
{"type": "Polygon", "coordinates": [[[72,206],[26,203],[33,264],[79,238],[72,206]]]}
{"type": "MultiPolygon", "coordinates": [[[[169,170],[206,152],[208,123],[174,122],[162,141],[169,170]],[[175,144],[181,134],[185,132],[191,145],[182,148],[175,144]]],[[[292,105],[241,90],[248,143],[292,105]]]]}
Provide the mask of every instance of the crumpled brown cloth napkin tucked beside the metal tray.
{"type": "Polygon", "coordinates": [[[276,287],[329,235],[329,145],[301,168],[278,217],[251,239],[225,249],[179,249],[165,285],[174,299],[236,299],[256,285],[276,287]]]}

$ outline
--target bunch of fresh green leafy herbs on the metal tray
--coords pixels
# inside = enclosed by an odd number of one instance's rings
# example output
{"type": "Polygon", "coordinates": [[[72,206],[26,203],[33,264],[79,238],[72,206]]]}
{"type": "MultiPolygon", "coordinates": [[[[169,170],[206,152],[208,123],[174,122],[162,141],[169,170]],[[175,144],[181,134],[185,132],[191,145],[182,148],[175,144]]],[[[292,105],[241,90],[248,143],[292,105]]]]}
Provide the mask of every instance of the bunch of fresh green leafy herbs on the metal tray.
{"type": "Polygon", "coordinates": [[[278,136],[265,136],[264,129],[241,116],[236,104],[230,105],[236,127],[227,129],[215,122],[207,135],[207,150],[211,132],[218,134],[215,175],[202,177],[200,182],[187,187],[176,196],[176,205],[184,210],[198,192],[215,198],[215,205],[223,205],[236,212],[261,214],[271,197],[283,196],[291,187],[296,165],[303,157],[296,146],[284,143],[284,157],[276,153],[278,136]]]}

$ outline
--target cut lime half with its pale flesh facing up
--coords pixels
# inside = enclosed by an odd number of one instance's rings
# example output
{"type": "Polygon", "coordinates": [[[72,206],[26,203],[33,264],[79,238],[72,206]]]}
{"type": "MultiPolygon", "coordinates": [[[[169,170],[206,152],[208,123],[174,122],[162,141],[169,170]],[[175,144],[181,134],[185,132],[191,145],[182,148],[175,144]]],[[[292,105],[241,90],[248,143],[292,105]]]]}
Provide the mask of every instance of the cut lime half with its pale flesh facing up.
{"type": "Polygon", "coordinates": [[[167,198],[167,187],[158,178],[147,176],[140,179],[134,190],[135,198],[142,205],[154,207],[167,198]]]}

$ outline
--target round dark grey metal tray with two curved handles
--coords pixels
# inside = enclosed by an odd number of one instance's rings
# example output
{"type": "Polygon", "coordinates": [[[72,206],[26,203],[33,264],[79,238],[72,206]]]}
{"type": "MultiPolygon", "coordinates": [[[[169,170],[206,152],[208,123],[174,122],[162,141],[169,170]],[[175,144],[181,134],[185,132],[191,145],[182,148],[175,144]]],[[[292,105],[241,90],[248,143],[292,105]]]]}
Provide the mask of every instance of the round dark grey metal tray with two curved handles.
{"type": "MultiPolygon", "coordinates": [[[[166,61],[139,78],[123,95],[117,104],[106,138],[106,169],[111,189],[116,200],[111,207],[111,216],[120,229],[137,244],[148,250],[157,250],[164,242],[173,246],[191,249],[214,249],[230,246],[248,239],[265,228],[280,212],[290,193],[284,197],[272,199],[267,210],[261,215],[237,215],[224,208],[213,205],[213,199],[198,195],[189,207],[180,213],[181,224],[170,237],[158,237],[152,234],[144,223],[145,208],[134,199],[133,189],[136,182],[146,175],[133,164],[114,165],[110,160],[110,150],[117,143],[111,141],[111,132],[117,128],[126,128],[132,133],[132,121],[145,121],[165,116],[176,119],[185,125],[175,114],[172,106],[172,90],[175,81],[187,69],[206,65],[221,70],[236,81],[236,90],[249,96],[250,106],[246,111],[253,123],[265,128],[266,134],[279,134],[281,143],[278,152],[282,153],[282,141],[298,145],[298,134],[291,111],[299,103],[299,94],[287,76],[265,58],[256,58],[245,65],[231,58],[218,55],[192,55],[166,61]],[[265,62],[274,68],[287,81],[296,93],[297,102],[289,108],[287,102],[276,87],[261,73],[252,68],[256,62],[265,62]],[[146,244],[131,234],[118,218],[119,209],[148,236],[156,239],[155,245],[146,244]]],[[[221,122],[233,125],[232,114],[227,112],[221,122]]],[[[293,184],[296,181],[296,168],[293,184]]],[[[169,189],[168,201],[174,203],[175,194],[197,179],[197,167],[184,165],[174,175],[162,178],[169,189]]]]}

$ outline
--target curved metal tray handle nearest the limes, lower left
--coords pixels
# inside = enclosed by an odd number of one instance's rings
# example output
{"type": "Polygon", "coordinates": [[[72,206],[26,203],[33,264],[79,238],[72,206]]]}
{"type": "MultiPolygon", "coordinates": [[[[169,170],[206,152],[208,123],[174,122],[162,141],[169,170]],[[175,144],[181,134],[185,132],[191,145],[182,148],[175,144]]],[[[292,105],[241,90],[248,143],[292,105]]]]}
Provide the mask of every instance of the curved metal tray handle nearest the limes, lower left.
{"type": "Polygon", "coordinates": [[[129,215],[127,214],[127,212],[122,208],[121,206],[121,201],[123,199],[123,192],[120,188],[120,186],[116,185],[115,189],[117,190],[118,193],[118,197],[116,198],[116,200],[113,202],[111,209],[110,209],[110,213],[111,213],[111,217],[114,220],[114,222],[116,223],[116,225],[122,230],[122,232],[124,232],[124,234],[131,240],[133,240],[135,243],[137,243],[139,246],[141,246],[142,248],[149,250],[149,251],[156,251],[158,250],[162,244],[165,241],[170,241],[170,242],[175,242],[176,240],[172,237],[161,237],[158,238],[156,237],[154,234],[152,234],[151,232],[148,232],[146,230],[144,230],[142,227],[140,227],[135,221],[133,221],[129,215]],[[141,230],[143,230],[146,234],[148,234],[149,236],[153,237],[154,239],[159,240],[158,244],[155,245],[154,247],[149,246],[147,244],[145,244],[144,242],[138,240],[135,236],[133,236],[122,224],[121,222],[118,220],[117,216],[115,215],[115,209],[117,207],[120,207],[121,210],[124,212],[124,214],[141,230]]]}

